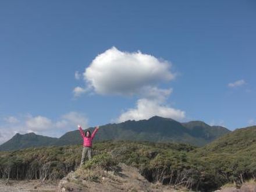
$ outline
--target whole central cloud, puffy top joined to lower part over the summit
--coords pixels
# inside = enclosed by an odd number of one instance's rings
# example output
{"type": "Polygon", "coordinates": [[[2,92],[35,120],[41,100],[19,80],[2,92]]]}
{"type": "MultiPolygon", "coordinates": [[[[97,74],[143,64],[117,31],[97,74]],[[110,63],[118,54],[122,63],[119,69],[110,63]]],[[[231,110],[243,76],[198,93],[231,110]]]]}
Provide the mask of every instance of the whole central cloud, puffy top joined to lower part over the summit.
{"type": "Polygon", "coordinates": [[[123,52],[112,47],[94,58],[83,73],[85,87],[76,87],[73,93],[76,97],[90,92],[140,98],[136,108],[123,112],[118,122],[154,115],[180,120],[185,112],[166,105],[172,88],[159,88],[175,78],[171,66],[168,61],[140,51],[123,52]]]}

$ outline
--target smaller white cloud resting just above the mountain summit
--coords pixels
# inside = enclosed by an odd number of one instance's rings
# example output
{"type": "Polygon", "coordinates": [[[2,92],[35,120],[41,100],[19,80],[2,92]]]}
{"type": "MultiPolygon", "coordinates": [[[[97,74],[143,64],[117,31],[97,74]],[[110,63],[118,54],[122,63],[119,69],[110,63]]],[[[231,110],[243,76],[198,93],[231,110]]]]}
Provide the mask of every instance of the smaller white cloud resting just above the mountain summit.
{"type": "Polygon", "coordinates": [[[126,120],[142,120],[149,119],[152,116],[162,116],[175,120],[182,120],[185,117],[185,112],[179,109],[170,108],[155,100],[138,99],[136,108],[128,109],[123,112],[117,122],[125,122],[126,120]]]}

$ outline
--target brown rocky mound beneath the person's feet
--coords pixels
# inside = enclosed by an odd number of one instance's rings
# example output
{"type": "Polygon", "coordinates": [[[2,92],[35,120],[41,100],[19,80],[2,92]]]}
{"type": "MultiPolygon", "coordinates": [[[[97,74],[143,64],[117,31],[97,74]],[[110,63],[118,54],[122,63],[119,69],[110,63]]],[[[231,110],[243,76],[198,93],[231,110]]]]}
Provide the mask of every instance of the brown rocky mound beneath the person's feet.
{"type": "Polygon", "coordinates": [[[83,180],[76,172],[70,172],[59,182],[58,191],[177,191],[170,186],[148,182],[136,168],[123,163],[118,166],[120,168],[118,172],[104,171],[105,174],[97,181],[83,180]]]}

